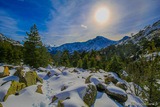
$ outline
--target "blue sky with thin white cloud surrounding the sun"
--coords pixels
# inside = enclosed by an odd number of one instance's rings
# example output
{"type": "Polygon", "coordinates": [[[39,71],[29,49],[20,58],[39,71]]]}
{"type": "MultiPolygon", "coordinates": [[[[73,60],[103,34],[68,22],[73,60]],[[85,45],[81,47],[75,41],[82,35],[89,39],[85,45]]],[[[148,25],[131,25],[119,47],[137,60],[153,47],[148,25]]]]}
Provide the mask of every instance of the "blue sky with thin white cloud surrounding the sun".
{"type": "Polygon", "coordinates": [[[0,0],[0,33],[22,41],[36,24],[44,44],[61,45],[102,35],[118,40],[160,20],[160,0],[0,0]],[[109,20],[94,14],[106,7],[109,20]]]}

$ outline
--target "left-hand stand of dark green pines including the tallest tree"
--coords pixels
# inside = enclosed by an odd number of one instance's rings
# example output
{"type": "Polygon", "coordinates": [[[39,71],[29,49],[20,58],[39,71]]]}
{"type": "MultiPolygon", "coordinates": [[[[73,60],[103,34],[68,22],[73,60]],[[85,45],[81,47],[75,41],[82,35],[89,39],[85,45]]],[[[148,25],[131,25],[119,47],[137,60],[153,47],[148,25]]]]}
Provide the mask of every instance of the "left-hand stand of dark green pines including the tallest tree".
{"type": "Polygon", "coordinates": [[[26,34],[23,46],[1,40],[0,62],[14,65],[26,64],[34,68],[46,67],[52,59],[41,41],[36,25],[34,24],[26,34]]]}

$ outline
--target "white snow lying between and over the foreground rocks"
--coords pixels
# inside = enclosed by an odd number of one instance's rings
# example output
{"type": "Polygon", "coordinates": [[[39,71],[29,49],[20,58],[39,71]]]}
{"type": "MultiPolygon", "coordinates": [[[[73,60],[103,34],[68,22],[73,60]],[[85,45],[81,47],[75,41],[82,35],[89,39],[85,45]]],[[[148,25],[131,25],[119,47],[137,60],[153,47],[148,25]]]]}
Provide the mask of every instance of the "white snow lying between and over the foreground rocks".
{"type": "MultiPolygon", "coordinates": [[[[35,85],[24,88],[19,92],[19,95],[10,95],[5,102],[3,102],[3,97],[11,85],[11,82],[7,81],[19,81],[19,78],[13,76],[16,71],[15,69],[10,70],[10,76],[0,78],[0,103],[3,107],[57,107],[58,102],[61,102],[64,107],[88,107],[83,100],[85,94],[90,93],[90,90],[87,91],[88,84],[93,86],[100,83],[105,84],[105,77],[108,75],[116,78],[118,82],[126,85],[129,84],[120,79],[115,73],[107,73],[103,70],[92,72],[78,68],[52,68],[50,66],[40,68],[40,70],[44,72],[36,72],[39,77],[43,78],[43,83],[38,82],[35,85]],[[47,76],[48,72],[50,72],[50,76],[47,76]],[[89,76],[90,83],[86,83],[86,79],[89,76]],[[39,84],[42,85],[43,94],[36,92],[37,85],[39,84]],[[55,96],[57,99],[53,101],[55,96]]],[[[30,69],[25,67],[24,71],[28,72],[30,69]]],[[[3,72],[3,66],[0,66],[0,72],[3,72]]],[[[144,103],[139,97],[120,89],[115,84],[109,83],[104,86],[111,93],[122,96],[127,95],[127,101],[120,103],[105,92],[97,91],[96,99],[92,107],[144,107],[144,103]]]]}

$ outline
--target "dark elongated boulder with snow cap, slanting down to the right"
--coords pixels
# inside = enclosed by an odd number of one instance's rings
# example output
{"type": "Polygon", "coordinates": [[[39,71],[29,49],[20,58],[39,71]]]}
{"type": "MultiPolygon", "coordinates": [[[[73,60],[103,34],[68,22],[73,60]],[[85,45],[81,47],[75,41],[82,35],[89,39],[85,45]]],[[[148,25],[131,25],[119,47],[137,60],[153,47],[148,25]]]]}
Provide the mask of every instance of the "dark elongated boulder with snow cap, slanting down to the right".
{"type": "Polygon", "coordinates": [[[105,90],[105,93],[114,100],[117,100],[121,104],[126,102],[128,99],[127,93],[116,86],[108,86],[105,90]]]}

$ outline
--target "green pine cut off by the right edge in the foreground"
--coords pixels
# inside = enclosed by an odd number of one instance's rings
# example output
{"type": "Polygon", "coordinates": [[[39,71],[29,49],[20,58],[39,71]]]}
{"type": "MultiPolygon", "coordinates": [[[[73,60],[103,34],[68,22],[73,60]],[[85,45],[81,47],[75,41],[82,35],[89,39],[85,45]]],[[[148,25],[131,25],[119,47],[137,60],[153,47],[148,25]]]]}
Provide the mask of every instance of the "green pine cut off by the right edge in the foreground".
{"type": "MultiPolygon", "coordinates": [[[[152,56],[153,58],[153,56],[152,56]]],[[[145,86],[148,89],[145,91],[148,93],[148,103],[149,105],[154,104],[155,106],[160,106],[160,58],[157,56],[155,59],[148,61],[148,66],[145,68],[145,86]]]]}

